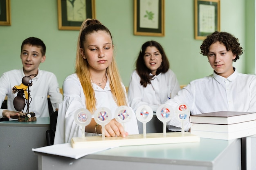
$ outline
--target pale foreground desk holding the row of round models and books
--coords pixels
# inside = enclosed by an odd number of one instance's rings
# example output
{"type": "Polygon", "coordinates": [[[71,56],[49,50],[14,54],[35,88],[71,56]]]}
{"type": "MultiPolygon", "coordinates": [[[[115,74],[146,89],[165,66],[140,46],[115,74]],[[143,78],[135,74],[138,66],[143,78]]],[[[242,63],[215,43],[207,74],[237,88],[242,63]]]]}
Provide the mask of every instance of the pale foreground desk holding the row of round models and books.
{"type": "Polygon", "coordinates": [[[36,152],[38,170],[241,170],[240,139],[124,146],[72,159],[36,152]]]}

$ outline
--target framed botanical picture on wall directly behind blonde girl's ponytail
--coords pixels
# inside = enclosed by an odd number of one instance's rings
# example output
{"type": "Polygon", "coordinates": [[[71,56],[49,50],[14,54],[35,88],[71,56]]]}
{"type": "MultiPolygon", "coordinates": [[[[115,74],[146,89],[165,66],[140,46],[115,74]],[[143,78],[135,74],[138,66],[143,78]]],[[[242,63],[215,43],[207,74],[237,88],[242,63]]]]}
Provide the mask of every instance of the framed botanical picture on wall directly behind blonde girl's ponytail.
{"type": "Polygon", "coordinates": [[[57,0],[58,29],[80,30],[86,18],[96,18],[95,0],[57,0]]]}

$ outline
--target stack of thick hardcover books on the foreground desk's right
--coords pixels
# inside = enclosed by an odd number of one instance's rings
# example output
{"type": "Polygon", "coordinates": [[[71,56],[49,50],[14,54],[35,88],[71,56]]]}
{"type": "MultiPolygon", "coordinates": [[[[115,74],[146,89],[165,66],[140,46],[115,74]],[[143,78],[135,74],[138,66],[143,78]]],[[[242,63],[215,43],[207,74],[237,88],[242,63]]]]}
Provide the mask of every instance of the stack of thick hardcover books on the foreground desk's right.
{"type": "Polygon", "coordinates": [[[256,134],[256,112],[220,111],[190,116],[191,133],[231,140],[256,134]]]}

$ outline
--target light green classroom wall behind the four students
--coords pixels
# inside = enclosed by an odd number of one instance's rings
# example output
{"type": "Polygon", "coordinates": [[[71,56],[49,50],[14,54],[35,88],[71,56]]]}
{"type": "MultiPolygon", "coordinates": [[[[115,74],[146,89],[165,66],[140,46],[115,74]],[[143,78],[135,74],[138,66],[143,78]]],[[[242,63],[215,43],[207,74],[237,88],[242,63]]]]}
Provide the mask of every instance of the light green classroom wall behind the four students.
{"type": "MultiPolygon", "coordinates": [[[[234,66],[239,72],[254,73],[254,0],[220,1],[221,31],[234,34],[248,49],[234,66]]],[[[141,45],[148,40],[162,44],[180,84],[212,73],[207,58],[199,53],[202,40],[194,39],[194,0],[165,0],[164,37],[133,35],[133,0],[96,0],[96,18],[112,33],[125,86],[141,45]]],[[[65,77],[74,73],[78,34],[58,30],[57,0],[11,0],[11,26],[0,26],[0,74],[22,67],[20,45],[35,36],[47,46],[40,69],[55,73],[61,87],[65,77]]]]}

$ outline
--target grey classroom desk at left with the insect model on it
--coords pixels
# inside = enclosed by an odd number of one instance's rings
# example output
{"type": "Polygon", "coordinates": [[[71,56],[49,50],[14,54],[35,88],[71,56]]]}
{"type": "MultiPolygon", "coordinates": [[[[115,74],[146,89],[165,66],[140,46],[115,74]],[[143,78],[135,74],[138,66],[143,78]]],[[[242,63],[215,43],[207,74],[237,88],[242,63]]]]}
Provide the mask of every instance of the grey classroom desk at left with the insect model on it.
{"type": "Polygon", "coordinates": [[[46,146],[49,117],[32,122],[0,122],[0,170],[37,170],[38,159],[32,148],[46,146]]]}

